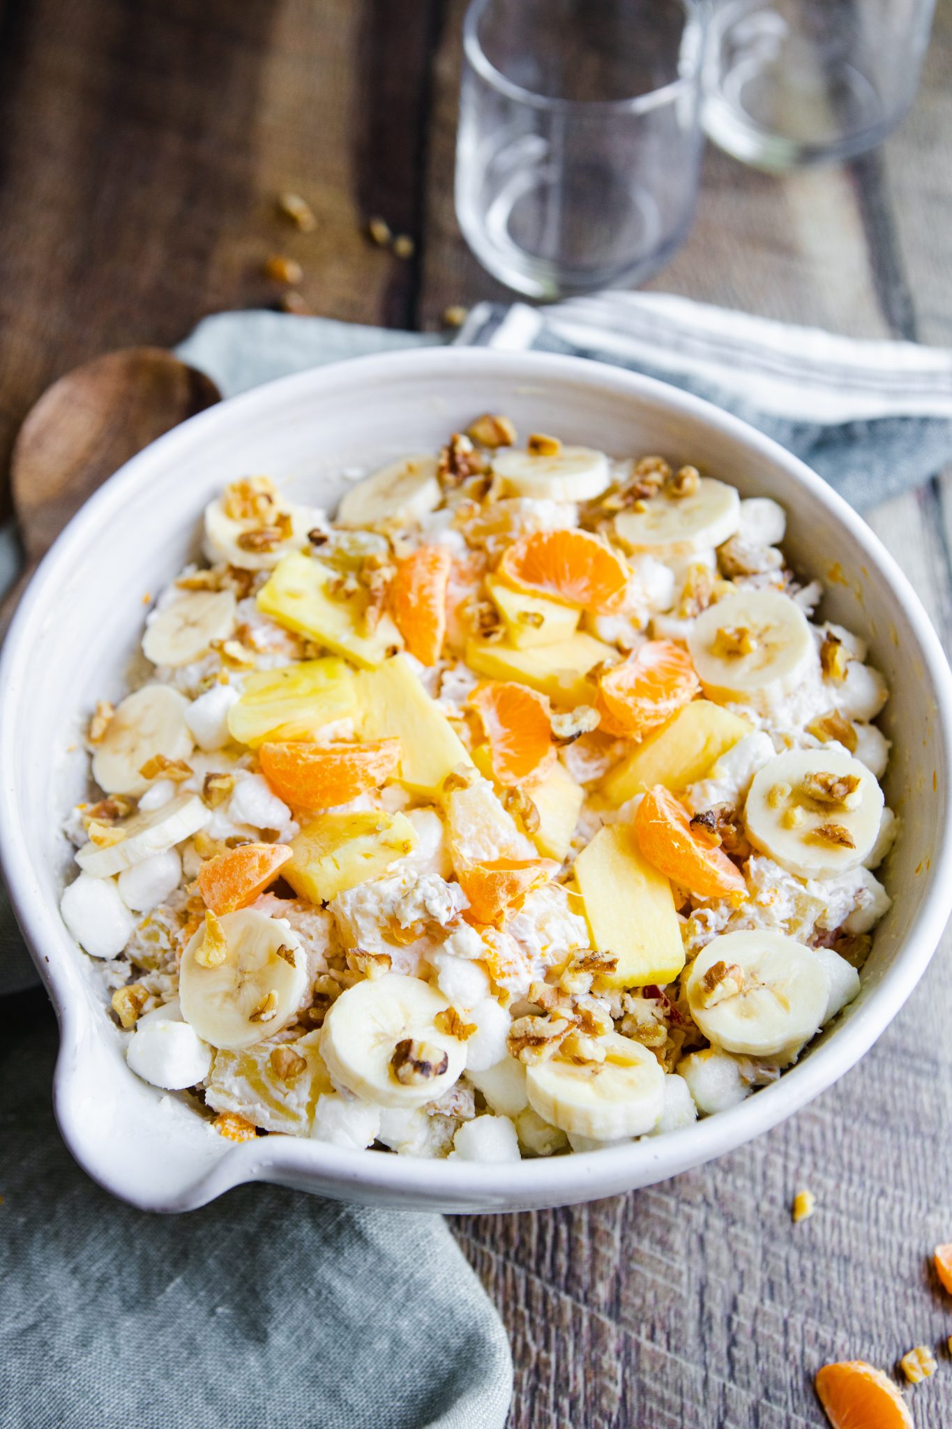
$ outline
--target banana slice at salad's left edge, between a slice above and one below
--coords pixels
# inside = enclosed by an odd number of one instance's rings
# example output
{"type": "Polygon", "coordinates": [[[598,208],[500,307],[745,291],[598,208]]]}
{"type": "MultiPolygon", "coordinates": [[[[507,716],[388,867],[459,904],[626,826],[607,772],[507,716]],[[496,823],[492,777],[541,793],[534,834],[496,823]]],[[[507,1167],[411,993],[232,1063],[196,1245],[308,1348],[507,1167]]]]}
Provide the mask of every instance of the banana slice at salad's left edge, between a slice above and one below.
{"type": "Polygon", "coordinates": [[[187,759],[194,740],[186,725],[188,700],[168,684],[143,684],[127,694],[93,753],[93,779],[107,795],[144,795],[140,770],[156,755],[187,759]]]}

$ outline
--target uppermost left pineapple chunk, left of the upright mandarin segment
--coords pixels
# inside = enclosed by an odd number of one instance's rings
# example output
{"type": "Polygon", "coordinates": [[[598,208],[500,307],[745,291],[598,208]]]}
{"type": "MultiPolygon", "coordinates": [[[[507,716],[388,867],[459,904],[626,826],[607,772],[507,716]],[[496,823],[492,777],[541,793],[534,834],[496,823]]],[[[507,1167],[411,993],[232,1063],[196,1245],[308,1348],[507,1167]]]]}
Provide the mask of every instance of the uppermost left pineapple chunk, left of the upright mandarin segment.
{"type": "Polygon", "coordinates": [[[350,600],[333,597],[327,592],[333,579],[335,572],[323,562],[293,552],[278,562],[267,584],[258,590],[258,609],[288,630],[373,669],[388,650],[402,643],[400,632],[390,616],[381,616],[368,633],[360,596],[350,600]]]}

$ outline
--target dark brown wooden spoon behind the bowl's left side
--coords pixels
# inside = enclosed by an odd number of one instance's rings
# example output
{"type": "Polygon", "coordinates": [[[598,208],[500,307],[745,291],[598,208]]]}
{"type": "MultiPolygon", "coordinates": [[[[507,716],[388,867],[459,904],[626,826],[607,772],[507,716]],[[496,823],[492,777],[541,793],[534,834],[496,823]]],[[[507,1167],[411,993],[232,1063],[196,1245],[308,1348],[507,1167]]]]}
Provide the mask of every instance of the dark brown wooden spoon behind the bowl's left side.
{"type": "Polygon", "coordinates": [[[83,502],[156,437],[220,400],[210,377],[161,347],[106,353],[47,387],[27,413],[10,457],[26,570],[0,606],[0,630],[83,502]]]}

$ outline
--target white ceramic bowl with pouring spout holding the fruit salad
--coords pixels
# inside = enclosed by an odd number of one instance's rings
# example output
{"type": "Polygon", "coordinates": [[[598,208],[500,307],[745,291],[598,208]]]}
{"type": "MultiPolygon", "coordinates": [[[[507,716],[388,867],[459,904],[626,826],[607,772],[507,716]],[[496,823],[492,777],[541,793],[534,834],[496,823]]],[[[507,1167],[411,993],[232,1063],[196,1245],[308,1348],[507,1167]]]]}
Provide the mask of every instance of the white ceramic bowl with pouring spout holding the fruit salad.
{"type": "Polygon", "coordinates": [[[581,359],[387,354],[287,377],[193,417],[123,467],[56,543],[7,637],[0,692],[3,870],[61,1023],[57,1117],[86,1170],[141,1208],[186,1210],[240,1182],[270,1180],[373,1205],[518,1210],[664,1180],[768,1130],[846,1072],[922,976],[952,902],[952,680],[902,573],[864,522],[766,437],[672,387],[581,359]],[[888,869],[893,907],[841,1020],[774,1086],[689,1129],[502,1166],[290,1136],[230,1145],[127,1069],[97,967],[60,920],[71,850],[57,830],[84,789],[81,727],[96,699],[123,693],[143,602],[194,552],[201,509],[226,482],[267,472],[333,507],[343,469],[435,450],[485,410],[508,413],[521,432],[555,432],[615,454],[659,450],[698,462],[742,494],[786,507],[794,560],[819,577],[831,567],[839,574],[824,612],[869,639],[892,690],[886,793],[903,819],[888,869]]]}

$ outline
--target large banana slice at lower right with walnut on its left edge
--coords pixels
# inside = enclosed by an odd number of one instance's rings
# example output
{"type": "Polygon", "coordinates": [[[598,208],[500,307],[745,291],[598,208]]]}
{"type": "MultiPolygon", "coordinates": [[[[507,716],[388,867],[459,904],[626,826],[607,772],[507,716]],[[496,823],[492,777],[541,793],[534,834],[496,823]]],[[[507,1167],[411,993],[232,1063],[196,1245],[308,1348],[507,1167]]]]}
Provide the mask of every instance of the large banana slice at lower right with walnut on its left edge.
{"type": "Polygon", "coordinates": [[[694,960],[691,1016],[725,1052],[794,1055],[819,1030],[829,979],[811,947],[779,933],[724,933],[694,960]]]}

